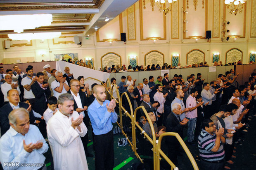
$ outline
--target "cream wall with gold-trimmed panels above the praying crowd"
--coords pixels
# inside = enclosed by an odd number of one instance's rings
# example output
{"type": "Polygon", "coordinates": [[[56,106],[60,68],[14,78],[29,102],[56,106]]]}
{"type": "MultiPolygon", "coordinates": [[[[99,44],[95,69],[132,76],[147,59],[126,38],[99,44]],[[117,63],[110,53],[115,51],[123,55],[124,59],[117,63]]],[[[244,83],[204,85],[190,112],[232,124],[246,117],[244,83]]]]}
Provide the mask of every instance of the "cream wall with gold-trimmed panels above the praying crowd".
{"type": "MultiPolygon", "coordinates": [[[[204,0],[204,9],[202,9],[202,0],[198,0],[196,11],[194,11],[192,0],[190,0],[188,9],[186,8],[185,1],[178,0],[173,5],[173,14],[167,14],[166,18],[158,11],[156,6],[154,6],[154,11],[152,11],[150,1],[145,2],[146,9],[143,9],[142,1],[136,2],[135,6],[123,11],[121,17],[117,16],[103,28],[100,28],[97,33],[91,35],[89,40],[86,40],[82,33],[65,34],[61,38],[54,39],[55,43],[53,43],[52,39],[45,40],[43,43],[40,40],[33,40],[32,46],[14,46],[5,50],[3,43],[8,38],[1,38],[0,62],[3,62],[4,58],[9,57],[34,57],[35,61],[47,61],[54,60],[54,54],[78,53],[79,59],[86,57],[93,58],[95,69],[97,69],[101,65],[100,58],[102,55],[109,52],[119,54],[122,64],[126,64],[127,66],[128,56],[137,56],[137,63],[141,65],[144,64],[145,54],[149,51],[156,50],[164,53],[164,62],[168,64],[171,64],[172,54],[180,54],[180,63],[185,65],[186,54],[193,49],[199,49],[204,51],[205,61],[210,64],[212,53],[219,52],[220,60],[225,63],[226,51],[231,48],[239,48],[243,52],[242,62],[245,64],[249,61],[249,53],[256,51],[256,22],[254,21],[256,12],[251,14],[251,11],[256,11],[256,0],[247,0],[246,8],[243,9],[241,14],[237,14],[236,16],[229,14],[228,9],[224,10],[223,0],[204,0]],[[185,4],[183,4],[184,2],[185,4]],[[205,3],[207,3],[207,9],[205,3]],[[183,22],[184,14],[182,7],[185,7],[189,11],[186,14],[186,19],[189,23],[185,25],[183,22]],[[141,14],[143,16],[142,20],[140,20],[141,14]],[[207,17],[205,14],[207,14],[207,17]],[[227,42],[221,42],[221,17],[224,14],[227,21],[230,21],[230,25],[228,25],[230,35],[237,34],[241,37],[244,36],[244,38],[237,40],[230,38],[227,42]],[[166,28],[164,27],[165,19],[166,28]],[[141,24],[141,21],[143,24],[141,24]],[[189,30],[189,32],[184,34],[184,29],[189,30]],[[195,33],[196,30],[198,30],[198,33],[195,33]],[[207,39],[199,39],[198,41],[187,39],[189,36],[205,37],[206,30],[212,30],[212,37],[213,30],[215,30],[218,33],[216,34],[217,38],[212,38],[211,42],[207,42],[207,39]],[[126,45],[122,41],[108,42],[108,39],[120,40],[121,32],[126,32],[126,45]],[[128,34],[130,34],[129,37],[133,37],[130,38],[133,40],[129,39],[128,34]],[[73,43],[73,36],[79,36],[81,38],[81,47],[73,43]],[[160,38],[156,42],[150,39],[147,40],[147,38],[157,36],[160,38]],[[45,53],[43,57],[40,55],[42,52],[45,53]]],[[[19,42],[12,41],[12,44],[19,44],[19,42]]]]}

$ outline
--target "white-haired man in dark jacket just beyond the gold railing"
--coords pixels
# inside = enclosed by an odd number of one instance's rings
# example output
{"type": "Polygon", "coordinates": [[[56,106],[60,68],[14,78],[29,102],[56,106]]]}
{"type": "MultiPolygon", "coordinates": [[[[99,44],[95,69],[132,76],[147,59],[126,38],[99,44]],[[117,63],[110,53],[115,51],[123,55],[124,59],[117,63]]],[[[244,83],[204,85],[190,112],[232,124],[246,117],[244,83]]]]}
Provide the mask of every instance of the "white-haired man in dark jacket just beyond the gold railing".
{"type": "MultiPolygon", "coordinates": [[[[166,132],[176,132],[183,138],[183,126],[187,124],[188,119],[180,120],[181,106],[179,103],[174,103],[172,113],[166,119],[166,132]]],[[[179,153],[180,143],[175,136],[166,137],[166,145],[168,146],[168,158],[178,165],[177,156],[179,153]]]]}

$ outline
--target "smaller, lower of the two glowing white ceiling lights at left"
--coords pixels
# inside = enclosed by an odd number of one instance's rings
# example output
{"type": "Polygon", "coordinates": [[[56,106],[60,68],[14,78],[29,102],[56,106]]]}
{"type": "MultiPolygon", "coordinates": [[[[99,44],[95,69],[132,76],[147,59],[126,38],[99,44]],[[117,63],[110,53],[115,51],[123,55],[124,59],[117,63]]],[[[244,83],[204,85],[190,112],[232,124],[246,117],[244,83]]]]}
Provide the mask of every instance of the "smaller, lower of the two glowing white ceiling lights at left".
{"type": "Polygon", "coordinates": [[[61,36],[61,32],[37,32],[37,33],[21,33],[21,34],[8,34],[8,37],[12,40],[27,40],[32,39],[53,39],[61,36]]]}

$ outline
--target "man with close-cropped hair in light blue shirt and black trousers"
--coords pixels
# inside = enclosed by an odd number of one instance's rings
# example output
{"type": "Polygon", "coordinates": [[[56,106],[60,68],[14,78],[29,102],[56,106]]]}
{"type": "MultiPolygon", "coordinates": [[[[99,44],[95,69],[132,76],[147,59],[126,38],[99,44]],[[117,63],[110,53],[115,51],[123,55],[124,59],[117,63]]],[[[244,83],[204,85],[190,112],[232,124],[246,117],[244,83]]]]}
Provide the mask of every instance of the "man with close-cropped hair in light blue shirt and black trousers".
{"type": "Polygon", "coordinates": [[[105,87],[95,85],[92,89],[95,100],[88,107],[92,123],[95,146],[95,169],[111,170],[114,168],[113,125],[117,121],[114,100],[106,100],[105,87]]]}

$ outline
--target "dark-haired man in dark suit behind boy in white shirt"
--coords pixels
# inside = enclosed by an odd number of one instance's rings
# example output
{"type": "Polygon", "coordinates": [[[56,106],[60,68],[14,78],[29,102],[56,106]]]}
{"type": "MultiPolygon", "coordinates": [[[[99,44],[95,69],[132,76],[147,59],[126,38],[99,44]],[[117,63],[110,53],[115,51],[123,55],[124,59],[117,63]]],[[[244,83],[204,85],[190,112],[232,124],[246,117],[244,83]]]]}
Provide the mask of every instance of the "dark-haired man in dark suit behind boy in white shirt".
{"type": "Polygon", "coordinates": [[[36,74],[37,82],[31,85],[31,90],[36,97],[36,102],[33,103],[32,109],[43,116],[47,109],[47,99],[51,95],[49,84],[44,82],[45,75],[42,72],[36,74]]]}

